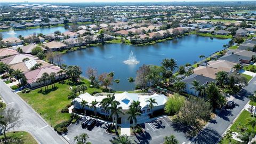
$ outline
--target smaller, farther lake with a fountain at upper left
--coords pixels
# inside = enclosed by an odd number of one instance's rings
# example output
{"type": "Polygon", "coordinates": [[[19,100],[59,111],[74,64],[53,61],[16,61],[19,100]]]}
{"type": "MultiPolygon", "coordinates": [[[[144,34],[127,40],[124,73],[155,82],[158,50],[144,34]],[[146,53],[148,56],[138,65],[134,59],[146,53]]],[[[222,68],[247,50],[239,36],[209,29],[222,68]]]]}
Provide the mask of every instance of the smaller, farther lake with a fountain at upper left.
{"type": "Polygon", "coordinates": [[[31,35],[31,34],[38,34],[42,33],[44,35],[54,33],[54,31],[59,30],[61,33],[68,30],[68,27],[44,27],[44,28],[34,28],[34,29],[22,29],[22,30],[12,30],[12,31],[3,31],[1,32],[4,35],[4,38],[9,37],[18,37],[18,35],[22,35],[23,37],[31,35]],[[13,33],[14,32],[14,33],[13,33]]]}

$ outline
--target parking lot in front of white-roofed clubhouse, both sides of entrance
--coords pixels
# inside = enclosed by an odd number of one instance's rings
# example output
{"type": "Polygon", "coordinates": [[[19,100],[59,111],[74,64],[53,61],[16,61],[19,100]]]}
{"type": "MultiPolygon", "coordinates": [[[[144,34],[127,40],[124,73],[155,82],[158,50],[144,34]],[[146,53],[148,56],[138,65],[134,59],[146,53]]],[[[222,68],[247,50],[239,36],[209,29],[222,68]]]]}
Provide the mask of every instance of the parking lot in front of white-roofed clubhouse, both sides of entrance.
{"type": "MultiPolygon", "coordinates": [[[[89,139],[91,143],[110,143],[114,136],[105,133],[108,124],[97,122],[92,130],[83,129],[81,126],[82,119],[77,121],[77,123],[68,126],[68,133],[65,135],[65,138],[70,143],[74,142],[74,137],[81,133],[89,134],[89,139]]],[[[131,140],[134,143],[163,143],[165,136],[170,136],[171,134],[175,135],[175,138],[179,143],[185,144],[188,143],[186,134],[183,130],[186,130],[187,127],[179,124],[174,124],[170,121],[169,118],[164,117],[151,121],[145,124],[141,124],[142,128],[145,130],[145,133],[141,135],[136,135],[131,137],[131,140]]]]}

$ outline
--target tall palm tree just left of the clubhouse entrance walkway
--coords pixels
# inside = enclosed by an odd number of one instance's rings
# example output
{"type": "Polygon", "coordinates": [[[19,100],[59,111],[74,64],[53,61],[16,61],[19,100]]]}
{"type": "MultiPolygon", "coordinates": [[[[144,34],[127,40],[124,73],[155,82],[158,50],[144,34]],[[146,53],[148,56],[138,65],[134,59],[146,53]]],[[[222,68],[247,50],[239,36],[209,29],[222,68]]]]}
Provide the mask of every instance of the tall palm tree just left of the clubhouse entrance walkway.
{"type": "Polygon", "coordinates": [[[118,118],[118,114],[124,114],[123,111],[122,111],[122,107],[118,107],[118,105],[120,105],[120,102],[114,100],[111,103],[111,106],[107,108],[107,109],[109,109],[111,111],[109,117],[112,117],[112,121],[115,124],[115,131],[116,131],[116,133],[117,133],[117,118],[118,118]]]}

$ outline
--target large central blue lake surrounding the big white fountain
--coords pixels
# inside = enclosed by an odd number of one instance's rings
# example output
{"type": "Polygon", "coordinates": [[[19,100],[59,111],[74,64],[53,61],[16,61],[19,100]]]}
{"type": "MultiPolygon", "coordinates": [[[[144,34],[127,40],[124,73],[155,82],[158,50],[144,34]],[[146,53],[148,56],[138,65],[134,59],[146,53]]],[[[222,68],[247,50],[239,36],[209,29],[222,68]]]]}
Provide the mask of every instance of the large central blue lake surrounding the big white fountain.
{"type": "MultiPolygon", "coordinates": [[[[200,60],[199,55],[208,57],[222,50],[222,46],[228,44],[228,41],[229,39],[189,35],[149,46],[106,44],[65,53],[62,55],[62,63],[80,66],[83,76],[86,76],[87,67],[97,68],[98,74],[114,71],[114,79],[121,79],[119,90],[128,91],[131,90],[131,84],[127,78],[135,78],[136,70],[143,64],[159,66],[164,58],[177,60],[179,66],[193,64],[194,61],[200,60]],[[127,65],[123,62],[129,58],[131,51],[140,62],[138,65],[127,65]]],[[[116,90],[117,85],[111,87],[116,90]]]]}

